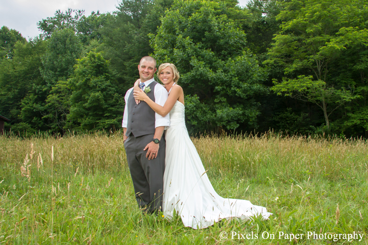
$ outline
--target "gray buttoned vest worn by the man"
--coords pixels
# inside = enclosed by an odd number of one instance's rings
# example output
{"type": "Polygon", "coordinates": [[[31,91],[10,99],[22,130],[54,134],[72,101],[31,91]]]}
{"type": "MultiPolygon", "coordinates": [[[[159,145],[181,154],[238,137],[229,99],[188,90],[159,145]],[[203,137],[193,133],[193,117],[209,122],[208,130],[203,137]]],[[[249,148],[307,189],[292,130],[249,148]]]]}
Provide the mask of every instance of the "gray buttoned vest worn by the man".
{"type": "MultiPolygon", "coordinates": [[[[157,82],[153,81],[149,83],[151,91],[147,93],[147,96],[155,102],[155,86],[157,82]]],[[[155,134],[155,111],[148,106],[144,101],[141,101],[138,105],[133,97],[133,91],[128,98],[128,123],[126,126],[126,136],[131,133],[135,137],[143,135],[154,135],[155,134]]]]}

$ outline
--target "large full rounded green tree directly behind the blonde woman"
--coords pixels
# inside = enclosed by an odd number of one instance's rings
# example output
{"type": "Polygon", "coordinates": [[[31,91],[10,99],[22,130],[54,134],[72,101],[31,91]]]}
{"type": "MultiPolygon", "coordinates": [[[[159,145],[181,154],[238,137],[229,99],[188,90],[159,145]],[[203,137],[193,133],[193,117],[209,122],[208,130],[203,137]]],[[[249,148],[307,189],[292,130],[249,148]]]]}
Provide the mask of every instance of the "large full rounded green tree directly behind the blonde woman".
{"type": "Polygon", "coordinates": [[[265,72],[249,54],[245,33],[224,14],[228,3],[176,1],[153,38],[159,63],[177,65],[186,115],[199,130],[256,126],[254,95],[264,94],[265,72]]]}

